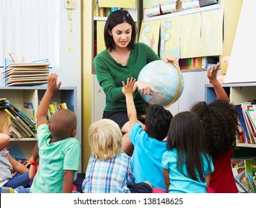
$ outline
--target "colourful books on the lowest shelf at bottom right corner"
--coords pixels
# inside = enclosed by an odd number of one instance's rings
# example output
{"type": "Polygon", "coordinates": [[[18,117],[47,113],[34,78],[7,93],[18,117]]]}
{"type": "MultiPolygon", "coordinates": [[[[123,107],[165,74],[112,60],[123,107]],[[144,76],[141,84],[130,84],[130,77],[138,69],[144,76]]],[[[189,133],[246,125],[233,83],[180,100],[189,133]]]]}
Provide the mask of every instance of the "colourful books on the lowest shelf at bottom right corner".
{"type": "Polygon", "coordinates": [[[256,157],[231,160],[234,179],[243,192],[256,193],[256,157]]]}

